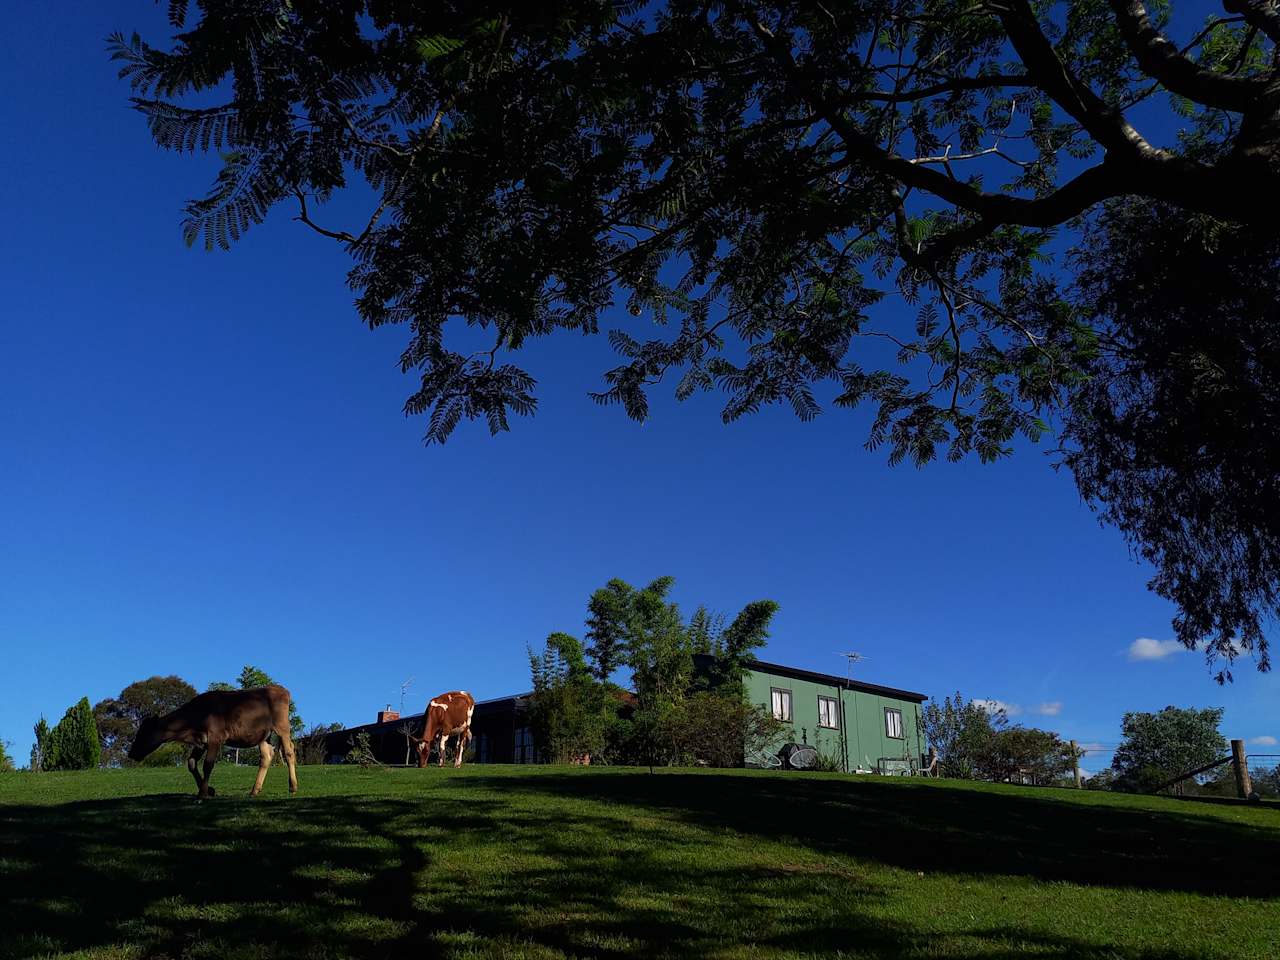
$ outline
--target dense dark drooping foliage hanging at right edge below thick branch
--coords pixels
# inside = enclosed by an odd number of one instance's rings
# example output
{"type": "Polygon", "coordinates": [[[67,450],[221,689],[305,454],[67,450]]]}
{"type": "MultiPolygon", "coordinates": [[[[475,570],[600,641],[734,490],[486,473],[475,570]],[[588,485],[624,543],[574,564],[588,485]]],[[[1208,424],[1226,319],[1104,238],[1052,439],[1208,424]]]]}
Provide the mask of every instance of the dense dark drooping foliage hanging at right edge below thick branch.
{"type": "Polygon", "coordinates": [[[1112,202],[1075,252],[1101,332],[1066,463],[1174,600],[1176,635],[1268,663],[1280,570],[1280,237],[1112,202]]]}

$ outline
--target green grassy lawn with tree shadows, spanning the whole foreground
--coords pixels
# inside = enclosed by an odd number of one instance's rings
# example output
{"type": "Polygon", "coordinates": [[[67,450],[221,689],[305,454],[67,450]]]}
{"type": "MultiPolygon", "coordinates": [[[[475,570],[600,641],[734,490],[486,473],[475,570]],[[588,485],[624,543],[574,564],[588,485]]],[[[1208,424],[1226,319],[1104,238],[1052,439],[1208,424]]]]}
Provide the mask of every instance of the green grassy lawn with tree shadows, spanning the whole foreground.
{"type": "Polygon", "coordinates": [[[1280,957],[1280,805],[777,772],[0,774],[0,957],[1280,957]]]}

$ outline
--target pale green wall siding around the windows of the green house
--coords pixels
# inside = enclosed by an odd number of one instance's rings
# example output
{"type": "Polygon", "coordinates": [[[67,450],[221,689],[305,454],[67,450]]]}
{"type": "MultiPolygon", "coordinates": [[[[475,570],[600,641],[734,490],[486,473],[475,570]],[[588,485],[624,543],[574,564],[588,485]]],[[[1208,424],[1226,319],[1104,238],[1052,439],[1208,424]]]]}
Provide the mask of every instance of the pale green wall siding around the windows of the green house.
{"type": "Polygon", "coordinates": [[[864,690],[842,690],[837,685],[796,680],[760,669],[748,671],[746,695],[751,703],[771,709],[773,687],[791,691],[791,723],[777,746],[785,742],[808,741],[828,756],[838,759],[844,753],[850,771],[874,771],[877,762],[886,756],[913,758],[919,762],[920,707],[914,700],[864,690]],[[819,695],[837,698],[842,703],[844,722],[847,727],[844,741],[841,731],[818,726],[819,695]],[[886,708],[902,712],[901,740],[891,739],[886,733],[886,708]]]}

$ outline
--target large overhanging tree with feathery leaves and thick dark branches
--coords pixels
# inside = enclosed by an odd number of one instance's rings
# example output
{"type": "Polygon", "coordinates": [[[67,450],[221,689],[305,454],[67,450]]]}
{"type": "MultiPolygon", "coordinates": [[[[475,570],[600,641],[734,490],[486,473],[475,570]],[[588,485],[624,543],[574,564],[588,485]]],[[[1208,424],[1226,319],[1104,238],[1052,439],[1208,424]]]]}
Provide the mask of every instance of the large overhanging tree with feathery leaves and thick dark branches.
{"type": "MultiPolygon", "coordinates": [[[[722,390],[726,420],[869,403],[869,445],[923,463],[1007,453],[1096,375],[1106,321],[1050,261],[1064,225],[1123,198],[1280,221],[1280,13],[1172,8],[178,0],[169,49],[116,35],[111,55],[161,147],[221,156],[188,243],[229,247],[285,205],[342,244],[364,321],[410,330],[406,412],[429,442],[532,413],[511,355],[598,333],[625,302],[636,320],[609,333],[621,362],[596,401],[644,419],[673,380],[678,398],[722,390]],[[329,220],[357,177],[367,214],[329,220]],[[886,294],[916,316],[881,317],[886,294]],[[490,346],[447,335],[453,319],[490,346]]],[[[1188,257],[1184,276],[1208,273],[1188,257]]],[[[1249,456],[1166,453],[1180,477],[1249,456]]],[[[1083,493],[1190,604],[1179,636],[1265,668],[1276,568],[1240,581],[1231,550],[1170,549],[1183,500],[1096,477],[1083,493]]],[[[1215,543],[1256,522],[1225,511],[1215,543]]]]}

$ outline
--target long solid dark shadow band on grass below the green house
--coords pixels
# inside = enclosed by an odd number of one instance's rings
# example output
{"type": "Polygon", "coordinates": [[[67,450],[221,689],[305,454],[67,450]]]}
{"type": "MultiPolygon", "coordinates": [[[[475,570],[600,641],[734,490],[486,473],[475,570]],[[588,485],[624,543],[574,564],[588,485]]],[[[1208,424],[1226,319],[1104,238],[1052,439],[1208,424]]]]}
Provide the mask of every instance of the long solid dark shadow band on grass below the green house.
{"type": "Polygon", "coordinates": [[[1280,823],[1071,804],[1039,792],[788,774],[495,778],[495,790],[666,810],[690,823],[913,870],[1280,899],[1280,823]]]}

